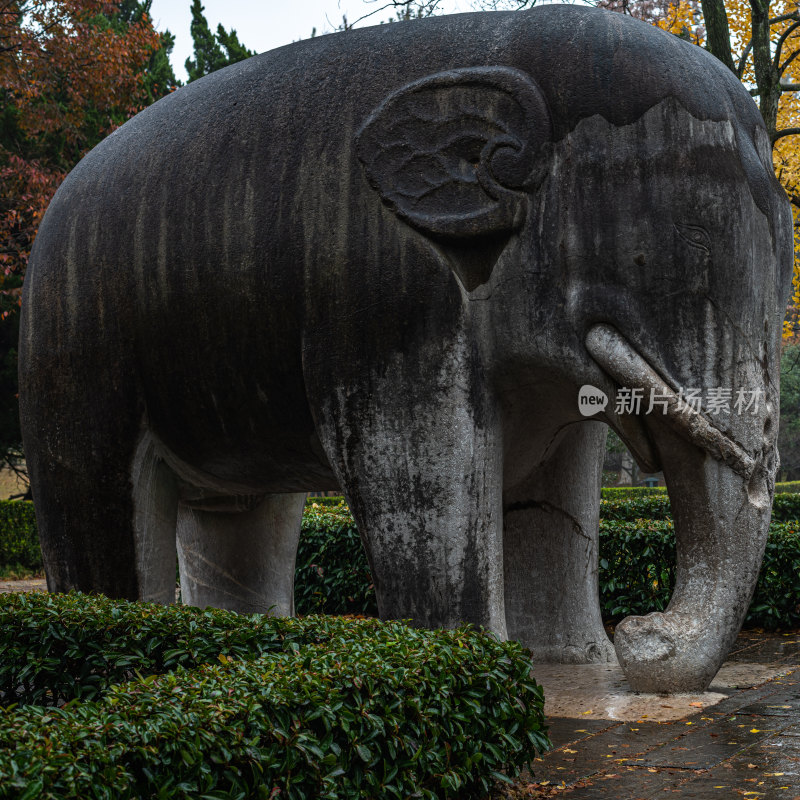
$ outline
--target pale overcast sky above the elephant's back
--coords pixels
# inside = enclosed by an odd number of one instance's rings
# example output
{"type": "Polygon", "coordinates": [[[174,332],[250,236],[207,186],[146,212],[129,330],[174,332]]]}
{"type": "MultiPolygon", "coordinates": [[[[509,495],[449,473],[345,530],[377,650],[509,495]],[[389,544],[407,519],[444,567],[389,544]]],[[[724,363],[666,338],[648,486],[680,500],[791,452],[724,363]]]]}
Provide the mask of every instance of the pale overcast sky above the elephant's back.
{"type": "MultiPolygon", "coordinates": [[[[192,37],[189,26],[192,0],[153,0],[150,13],[157,30],[169,30],[175,36],[172,66],[175,75],[186,80],[183,64],[192,57],[192,37]]],[[[370,11],[387,5],[383,0],[204,0],[205,16],[212,31],[222,23],[226,30],[233,28],[239,41],[257,53],[272,50],[298,39],[307,39],[311,30],[330,33],[342,21],[350,22],[370,11]]],[[[474,10],[470,0],[444,0],[442,11],[474,10]]],[[[379,11],[361,25],[377,25],[393,16],[390,9],[379,11]]]]}

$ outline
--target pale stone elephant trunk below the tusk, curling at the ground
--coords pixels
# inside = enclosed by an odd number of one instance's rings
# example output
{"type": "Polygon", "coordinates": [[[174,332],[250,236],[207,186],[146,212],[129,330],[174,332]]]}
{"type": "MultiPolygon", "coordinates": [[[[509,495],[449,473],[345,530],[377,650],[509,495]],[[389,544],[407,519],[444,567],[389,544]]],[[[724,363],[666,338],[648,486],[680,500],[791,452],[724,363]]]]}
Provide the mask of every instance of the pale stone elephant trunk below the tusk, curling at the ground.
{"type": "Polygon", "coordinates": [[[748,481],[663,423],[648,430],[675,520],[676,583],[667,610],[623,620],[614,645],[634,691],[704,691],[747,614],[769,530],[772,475],[759,465],[748,481]]]}

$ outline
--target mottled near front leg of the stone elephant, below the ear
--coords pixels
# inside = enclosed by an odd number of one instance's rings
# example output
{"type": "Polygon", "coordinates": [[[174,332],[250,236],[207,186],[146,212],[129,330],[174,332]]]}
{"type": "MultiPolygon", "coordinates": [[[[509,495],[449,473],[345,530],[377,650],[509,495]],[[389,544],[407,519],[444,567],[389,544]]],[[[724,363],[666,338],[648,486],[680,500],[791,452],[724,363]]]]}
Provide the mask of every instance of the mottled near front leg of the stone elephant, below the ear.
{"type": "Polygon", "coordinates": [[[320,437],[347,495],[380,616],[464,622],[506,638],[501,444],[493,404],[463,374],[389,366],[323,404],[320,437]],[[479,402],[476,402],[479,400],[479,402]]]}

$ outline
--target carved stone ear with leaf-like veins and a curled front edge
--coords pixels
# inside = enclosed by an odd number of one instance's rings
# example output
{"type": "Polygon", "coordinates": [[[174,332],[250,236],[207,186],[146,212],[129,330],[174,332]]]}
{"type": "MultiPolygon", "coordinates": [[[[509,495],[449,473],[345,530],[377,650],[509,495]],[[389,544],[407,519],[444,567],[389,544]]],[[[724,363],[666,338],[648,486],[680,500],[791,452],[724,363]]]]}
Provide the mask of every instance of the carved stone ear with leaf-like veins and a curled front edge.
{"type": "Polygon", "coordinates": [[[533,79],[509,67],[440,72],[389,95],[356,141],[370,184],[398,216],[452,239],[524,220],[521,190],[550,114],[533,79]]]}

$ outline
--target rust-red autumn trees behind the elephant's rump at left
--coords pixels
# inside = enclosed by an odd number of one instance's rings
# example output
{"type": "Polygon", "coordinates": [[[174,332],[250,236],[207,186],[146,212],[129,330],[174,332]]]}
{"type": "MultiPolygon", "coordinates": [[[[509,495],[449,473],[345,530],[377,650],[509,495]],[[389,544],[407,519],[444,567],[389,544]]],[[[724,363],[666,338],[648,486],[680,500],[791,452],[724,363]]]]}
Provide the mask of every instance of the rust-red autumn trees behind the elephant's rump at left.
{"type": "Polygon", "coordinates": [[[21,457],[19,295],[39,221],[77,161],[175,78],[150,0],[0,4],[0,462],[21,457]],[[166,64],[166,67],[165,67],[166,64]]]}

